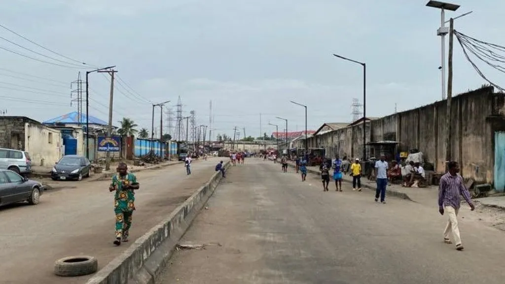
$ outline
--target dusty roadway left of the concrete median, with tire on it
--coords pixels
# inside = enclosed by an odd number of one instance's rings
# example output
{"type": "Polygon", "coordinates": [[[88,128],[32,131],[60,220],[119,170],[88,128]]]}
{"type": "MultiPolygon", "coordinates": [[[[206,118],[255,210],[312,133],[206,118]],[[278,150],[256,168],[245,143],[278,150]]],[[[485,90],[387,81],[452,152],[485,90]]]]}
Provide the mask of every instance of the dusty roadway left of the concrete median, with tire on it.
{"type": "Polygon", "coordinates": [[[92,255],[99,268],[155,226],[215,173],[216,159],[136,173],[140,190],[135,198],[130,243],[114,239],[114,200],[109,181],[69,181],[68,187],[47,191],[37,206],[0,209],[0,283],[82,283],[89,276],[53,275],[54,261],[70,255],[92,255]],[[77,187],[72,188],[75,185],[77,187]]]}

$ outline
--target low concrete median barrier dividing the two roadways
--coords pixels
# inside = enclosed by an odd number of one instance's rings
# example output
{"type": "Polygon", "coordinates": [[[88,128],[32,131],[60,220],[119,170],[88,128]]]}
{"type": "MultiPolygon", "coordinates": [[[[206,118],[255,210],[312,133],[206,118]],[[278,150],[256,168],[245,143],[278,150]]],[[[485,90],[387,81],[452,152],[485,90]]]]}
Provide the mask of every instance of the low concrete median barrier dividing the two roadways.
{"type": "MultiPolygon", "coordinates": [[[[230,162],[225,163],[225,169],[230,162]]],[[[158,225],[100,269],[86,284],[154,284],[182,235],[221,181],[221,172],[201,186],[158,225]]]]}

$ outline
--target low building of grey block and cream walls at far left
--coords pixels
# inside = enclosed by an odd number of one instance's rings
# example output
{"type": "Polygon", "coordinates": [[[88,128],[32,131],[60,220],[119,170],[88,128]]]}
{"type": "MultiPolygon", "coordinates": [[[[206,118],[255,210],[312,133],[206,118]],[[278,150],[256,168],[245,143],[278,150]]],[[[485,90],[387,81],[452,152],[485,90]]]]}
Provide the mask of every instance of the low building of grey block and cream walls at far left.
{"type": "Polygon", "coordinates": [[[0,117],[0,148],[30,153],[32,165],[52,165],[63,155],[58,129],[25,116],[0,117]]]}

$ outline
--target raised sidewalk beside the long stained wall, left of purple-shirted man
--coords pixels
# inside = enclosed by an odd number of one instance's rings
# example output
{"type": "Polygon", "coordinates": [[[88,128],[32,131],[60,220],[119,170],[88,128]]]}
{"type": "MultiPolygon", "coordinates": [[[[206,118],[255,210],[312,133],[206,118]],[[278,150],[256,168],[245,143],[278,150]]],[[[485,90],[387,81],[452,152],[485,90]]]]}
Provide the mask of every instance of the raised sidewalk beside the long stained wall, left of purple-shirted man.
{"type": "MultiPolygon", "coordinates": [[[[294,168],[294,163],[289,162],[289,166],[294,168]]],[[[317,166],[307,167],[307,172],[318,175],[320,174],[319,167],[317,166]]],[[[344,175],[342,180],[344,182],[352,183],[352,177],[349,175],[344,175]]],[[[368,180],[367,178],[362,178],[361,187],[368,188],[369,190],[375,192],[377,185],[375,181],[368,180]]],[[[386,188],[386,194],[389,196],[395,196],[422,204],[436,205],[438,198],[438,187],[429,186],[425,188],[419,188],[419,187],[403,187],[399,184],[390,184],[386,188]]],[[[504,198],[504,204],[505,204],[505,198],[504,198]]]]}

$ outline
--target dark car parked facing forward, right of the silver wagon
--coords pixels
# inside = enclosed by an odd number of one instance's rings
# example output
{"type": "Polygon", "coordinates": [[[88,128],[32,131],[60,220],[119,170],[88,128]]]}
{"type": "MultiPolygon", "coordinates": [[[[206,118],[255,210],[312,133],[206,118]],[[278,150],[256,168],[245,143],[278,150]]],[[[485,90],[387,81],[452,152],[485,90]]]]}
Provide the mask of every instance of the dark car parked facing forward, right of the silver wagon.
{"type": "Polygon", "coordinates": [[[51,177],[54,180],[81,180],[83,177],[89,177],[90,168],[91,163],[86,157],[66,155],[56,162],[51,171],[51,177]]]}

